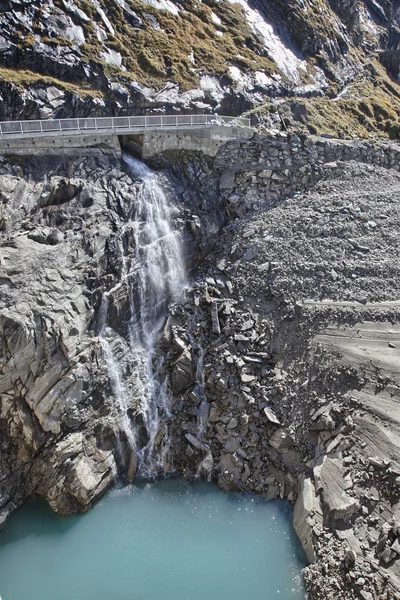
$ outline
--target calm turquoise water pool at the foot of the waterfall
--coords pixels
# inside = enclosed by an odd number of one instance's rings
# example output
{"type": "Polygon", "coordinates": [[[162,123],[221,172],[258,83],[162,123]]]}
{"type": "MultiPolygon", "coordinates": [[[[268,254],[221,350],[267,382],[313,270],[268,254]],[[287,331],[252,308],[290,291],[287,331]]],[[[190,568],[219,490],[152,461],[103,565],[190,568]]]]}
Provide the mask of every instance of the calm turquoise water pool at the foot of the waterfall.
{"type": "Polygon", "coordinates": [[[3,600],[304,600],[283,502],[212,484],[115,489],[86,515],[43,503],[0,531],[3,600]]]}

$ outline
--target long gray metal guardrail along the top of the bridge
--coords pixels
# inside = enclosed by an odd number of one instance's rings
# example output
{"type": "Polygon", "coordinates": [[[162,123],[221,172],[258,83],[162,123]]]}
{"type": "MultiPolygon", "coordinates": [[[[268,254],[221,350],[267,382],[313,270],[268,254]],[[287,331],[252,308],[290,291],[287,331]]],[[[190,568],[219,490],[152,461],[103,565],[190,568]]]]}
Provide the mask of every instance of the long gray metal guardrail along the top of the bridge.
{"type": "Polygon", "coordinates": [[[183,128],[236,126],[250,127],[250,119],[246,117],[223,117],[219,115],[160,115],[144,117],[88,117],[78,119],[54,119],[37,121],[2,121],[0,137],[17,135],[35,137],[42,134],[68,134],[94,131],[122,131],[183,128]]]}

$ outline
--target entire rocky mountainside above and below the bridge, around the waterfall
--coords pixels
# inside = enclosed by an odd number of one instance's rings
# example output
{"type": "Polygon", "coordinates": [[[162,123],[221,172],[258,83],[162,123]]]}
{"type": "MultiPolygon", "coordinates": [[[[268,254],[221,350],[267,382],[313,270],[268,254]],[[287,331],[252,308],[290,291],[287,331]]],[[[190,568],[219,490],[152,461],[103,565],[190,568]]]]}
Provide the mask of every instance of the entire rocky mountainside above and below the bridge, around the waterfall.
{"type": "Polygon", "coordinates": [[[187,286],[157,321],[152,428],[132,343],[143,181],[101,148],[0,158],[1,522],[34,494],[87,510],[146,450],[153,473],[293,502],[311,600],[400,597],[400,147],[365,139],[398,137],[399,10],[0,3],[1,119],[258,127],[215,159],[153,159],[187,286]]]}

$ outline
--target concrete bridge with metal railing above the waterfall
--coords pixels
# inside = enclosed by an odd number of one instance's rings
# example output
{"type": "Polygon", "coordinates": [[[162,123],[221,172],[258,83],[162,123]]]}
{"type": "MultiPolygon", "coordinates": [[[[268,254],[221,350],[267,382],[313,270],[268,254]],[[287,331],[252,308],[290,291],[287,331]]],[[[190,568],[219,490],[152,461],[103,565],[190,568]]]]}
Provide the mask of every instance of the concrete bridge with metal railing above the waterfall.
{"type": "Polygon", "coordinates": [[[83,117],[0,122],[0,155],[120,153],[142,158],[165,150],[214,156],[220,145],[253,136],[250,119],[220,115],[83,117]]]}

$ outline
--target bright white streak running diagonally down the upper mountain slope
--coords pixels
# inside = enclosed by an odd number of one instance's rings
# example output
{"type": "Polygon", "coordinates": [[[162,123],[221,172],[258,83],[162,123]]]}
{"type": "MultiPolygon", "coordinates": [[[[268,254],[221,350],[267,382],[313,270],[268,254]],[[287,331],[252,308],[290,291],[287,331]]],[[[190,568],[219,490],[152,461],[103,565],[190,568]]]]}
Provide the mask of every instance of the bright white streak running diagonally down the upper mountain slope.
{"type": "Polygon", "coordinates": [[[306,62],[300,54],[290,47],[289,42],[284,40],[257,10],[250,8],[246,0],[228,0],[228,2],[242,6],[250,28],[262,41],[278,68],[294,83],[299,83],[299,68],[306,62]]]}

